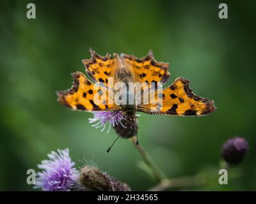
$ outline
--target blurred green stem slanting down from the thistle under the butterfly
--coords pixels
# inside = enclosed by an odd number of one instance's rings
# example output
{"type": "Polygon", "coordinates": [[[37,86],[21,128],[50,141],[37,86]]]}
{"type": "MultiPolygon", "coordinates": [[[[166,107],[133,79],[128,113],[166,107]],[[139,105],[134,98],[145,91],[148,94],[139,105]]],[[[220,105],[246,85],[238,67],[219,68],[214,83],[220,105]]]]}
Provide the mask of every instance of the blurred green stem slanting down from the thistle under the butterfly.
{"type": "Polygon", "coordinates": [[[132,143],[134,144],[134,147],[136,147],[136,149],[140,152],[141,157],[143,158],[143,161],[145,162],[145,164],[147,164],[147,166],[150,169],[152,175],[154,176],[154,179],[156,179],[156,181],[159,184],[161,184],[161,182],[166,180],[166,177],[163,174],[163,172],[161,170],[159,170],[159,168],[156,166],[154,161],[152,161],[152,158],[148,155],[146,150],[143,149],[143,147],[141,147],[140,144],[137,144],[136,136],[133,136],[131,138],[131,140],[132,140],[132,143]]]}

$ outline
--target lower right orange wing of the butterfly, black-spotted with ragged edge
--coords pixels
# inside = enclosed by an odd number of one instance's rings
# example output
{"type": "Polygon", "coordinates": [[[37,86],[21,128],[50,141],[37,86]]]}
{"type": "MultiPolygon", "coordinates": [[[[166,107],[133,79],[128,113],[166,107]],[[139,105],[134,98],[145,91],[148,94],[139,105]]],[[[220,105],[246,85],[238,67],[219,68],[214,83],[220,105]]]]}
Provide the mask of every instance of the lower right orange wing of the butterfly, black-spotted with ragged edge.
{"type": "Polygon", "coordinates": [[[182,77],[163,89],[163,93],[157,95],[155,92],[153,96],[148,105],[139,105],[138,111],[156,115],[200,116],[216,110],[213,101],[196,96],[189,87],[189,80],[182,77]]]}

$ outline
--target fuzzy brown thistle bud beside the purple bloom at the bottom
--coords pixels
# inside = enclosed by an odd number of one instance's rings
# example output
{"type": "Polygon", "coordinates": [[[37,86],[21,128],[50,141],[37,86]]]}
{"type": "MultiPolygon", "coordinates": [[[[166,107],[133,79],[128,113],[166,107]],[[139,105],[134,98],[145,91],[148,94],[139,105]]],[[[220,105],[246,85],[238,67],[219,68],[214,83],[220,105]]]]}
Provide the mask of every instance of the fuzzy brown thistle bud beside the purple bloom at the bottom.
{"type": "Polygon", "coordinates": [[[127,184],[92,166],[84,166],[78,178],[85,191],[131,191],[127,184]]]}

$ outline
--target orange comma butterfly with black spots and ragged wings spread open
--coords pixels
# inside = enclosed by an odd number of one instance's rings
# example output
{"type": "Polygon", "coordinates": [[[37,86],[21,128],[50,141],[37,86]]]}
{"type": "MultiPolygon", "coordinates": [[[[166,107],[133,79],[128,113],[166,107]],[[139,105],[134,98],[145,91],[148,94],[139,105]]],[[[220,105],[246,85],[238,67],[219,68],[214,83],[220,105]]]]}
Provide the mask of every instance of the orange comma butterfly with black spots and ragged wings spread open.
{"type": "MultiPolygon", "coordinates": [[[[74,83],[71,89],[57,92],[58,101],[68,108],[87,112],[106,111],[113,114],[122,111],[124,118],[132,122],[136,120],[136,112],[202,116],[216,110],[211,99],[196,96],[189,87],[189,80],[182,77],[176,78],[172,85],[162,89],[159,94],[158,89],[163,87],[157,84],[166,84],[168,81],[169,64],[155,61],[151,51],[141,59],[126,54],[113,54],[113,56],[107,54],[102,57],[92,49],[90,52],[92,58],[82,61],[88,77],[79,71],[72,73],[74,83]],[[114,86],[120,82],[125,85],[131,82],[148,85],[150,91],[143,90],[139,97],[141,100],[150,98],[150,101],[133,104],[117,103],[115,100],[117,91],[113,89],[113,85],[109,85],[110,79],[114,86]],[[156,87],[155,91],[153,88],[156,87]],[[99,98],[102,98],[101,103],[97,101],[99,98]]],[[[130,99],[131,95],[131,92],[125,94],[130,99]]]]}

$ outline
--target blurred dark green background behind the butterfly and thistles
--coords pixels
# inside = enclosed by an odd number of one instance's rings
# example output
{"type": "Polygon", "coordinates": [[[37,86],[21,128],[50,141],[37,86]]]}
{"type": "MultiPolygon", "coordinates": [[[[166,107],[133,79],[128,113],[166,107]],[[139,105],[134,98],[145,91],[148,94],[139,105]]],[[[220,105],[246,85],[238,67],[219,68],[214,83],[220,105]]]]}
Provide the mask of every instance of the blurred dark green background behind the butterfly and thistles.
{"type": "Polygon", "coordinates": [[[107,135],[88,123],[92,113],[72,112],[56,101],[56,90],[84,71],[88,48],[101,55],[154,51],[170,62],[171,84],[191,80],[199,96],[214,99],[207,117],[146,115],[139,118],[140,143],[168,177],[211,169],[218,178],[220,149],[240,135],[250,154],[241,177],[227,186],[213,179],[204,190],[256,190],[255,2],[224,1],[228,19],[218,18],[222,1],[1,1],[0,3],[0,189],[33,190],[26,171],[51,150],[70,149],[79,159],[127,182],[133,190],[156,183],[138,168],[140,154],[129,140],[107,135]],[[26,5],[36,4],[36,19],[26,5]]]}

